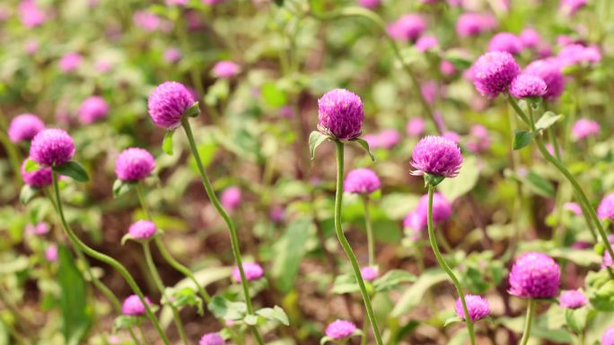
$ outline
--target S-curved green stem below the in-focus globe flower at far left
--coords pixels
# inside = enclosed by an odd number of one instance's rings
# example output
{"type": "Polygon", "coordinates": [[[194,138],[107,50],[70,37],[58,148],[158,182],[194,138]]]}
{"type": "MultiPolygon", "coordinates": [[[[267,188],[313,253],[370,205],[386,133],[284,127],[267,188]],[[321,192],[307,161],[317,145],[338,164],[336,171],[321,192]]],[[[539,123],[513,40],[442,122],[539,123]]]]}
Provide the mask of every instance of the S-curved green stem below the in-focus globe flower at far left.
{"type": "Polygon", "coordinates": [[[85,254],[88,254],[92,256],[92,258],[100,260],[103,263],[109,264],[111,267],[113,267],[119,272],[119,274],[124,278],[124,280],[127,281],[127,284],[130,286],[130,289],[135,292],[136,296],[138,296],[138,298],[141,300],[141,303],[143,303],[143,305],[145,306],[145,314],[147,315],[147,318],[149,318],[149,320],[153,323],[153,326],[155,327],[156,331],[158,331],[158,333],[160,334],[160,337],[164,344],[170,345],[169,339],[164,333],[164,331],[162,331],[162,327],[160,327],[160,323],[158,323],[158,320],[156,319],[155,315],[153,315],[151,307],[145,302],[145,295],[143,295],[143,291],[141,291],[141,288],[138,287],[138,284],[136,284],[135,279],[132,278],[132,275],[130,274],[130,272],[127,271],[126,267],[124,267],[124,265],[122,265],[109,255],[102,254],[92,249],[90,246],[85,245],[83,241],[81,241],[81,239],[76,236],[75,232],[70,229],[70,227],[68,226],[68,222],[66,221],[66,217],[64,216],[64,211],[62,209],[62,200],[60,198],[59,186],[57,184],[57,173],[53,171],[51,176],[53,178],[53,189],[56,194],[57,213],[59,214],[60,220],[62,221],[62,226],[66,231],[66,235],[73,243],[73,246],[79,247],[81,250],[83,250],[85,254]]]}

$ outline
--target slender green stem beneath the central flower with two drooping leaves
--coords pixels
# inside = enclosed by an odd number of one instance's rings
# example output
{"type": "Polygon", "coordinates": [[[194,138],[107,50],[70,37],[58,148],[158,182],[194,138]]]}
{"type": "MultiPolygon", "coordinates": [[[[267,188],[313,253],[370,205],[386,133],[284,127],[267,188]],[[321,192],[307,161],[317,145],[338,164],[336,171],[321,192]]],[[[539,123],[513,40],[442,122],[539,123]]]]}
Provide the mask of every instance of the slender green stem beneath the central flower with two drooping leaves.
{"type": "Polygon", "coordinates": [[[360,274],[360,266],[358,266],[358,262],[356,261],[356,256],[352,251],[352,247],[347,242],[346,235],[343,233],[343,229],[341,229],[341,207],[343,203],[343,156],[344,156],[344,147],[343,142],[335,141],[336,151],[337,151],[337,192],[335,194],[335,232],[337,232],[337,237],[339,239],[339,243],[343,247],[343,250],[346,252],[347,258],[352,264],[352,270],[354,271],[354,275],[356,280],[358,281],[358,286],[360,287],[360,294],[363,296],[364,308],[366,309],[367,316],[369,317],[369,322],[371,323],[371,327],[373,328],[373,335],[375,336],[375,342],[377,345],[382,345],[382,334],[380,333],[380,328],[377,325],[377,319],[375,319],[375,314],[373,313],[373,306],[371,306],[371,298],[369,297],[369,293],[364,286],[364,280],[362,274],[360,274]]]}

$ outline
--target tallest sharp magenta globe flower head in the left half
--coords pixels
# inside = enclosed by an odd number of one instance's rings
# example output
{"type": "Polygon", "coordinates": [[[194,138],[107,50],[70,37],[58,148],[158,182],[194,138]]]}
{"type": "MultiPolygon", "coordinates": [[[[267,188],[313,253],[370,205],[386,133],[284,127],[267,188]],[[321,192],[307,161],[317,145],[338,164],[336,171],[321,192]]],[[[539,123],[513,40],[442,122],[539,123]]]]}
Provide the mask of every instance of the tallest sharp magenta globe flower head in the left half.
{"type": "Polygon", "coordinates": [[[163,129],[181,125],[181,117],[196,101],[192,93],[179,82],[162,82],[147,100],[149,116],[153,123],[163,129]]]}

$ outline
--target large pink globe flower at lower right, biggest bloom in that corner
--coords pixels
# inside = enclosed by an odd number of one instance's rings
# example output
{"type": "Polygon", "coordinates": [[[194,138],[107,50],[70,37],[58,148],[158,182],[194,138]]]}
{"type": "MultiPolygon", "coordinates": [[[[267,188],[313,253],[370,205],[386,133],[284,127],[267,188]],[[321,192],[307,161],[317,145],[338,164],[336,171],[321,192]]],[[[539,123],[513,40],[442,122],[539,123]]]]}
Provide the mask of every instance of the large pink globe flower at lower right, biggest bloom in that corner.
{"type": "Polygon", "coordinates": [[[558,294],[561,272],[547,254],[522,254],[510,272],[509,293],[519,298],[554,298],[558,294]]]}

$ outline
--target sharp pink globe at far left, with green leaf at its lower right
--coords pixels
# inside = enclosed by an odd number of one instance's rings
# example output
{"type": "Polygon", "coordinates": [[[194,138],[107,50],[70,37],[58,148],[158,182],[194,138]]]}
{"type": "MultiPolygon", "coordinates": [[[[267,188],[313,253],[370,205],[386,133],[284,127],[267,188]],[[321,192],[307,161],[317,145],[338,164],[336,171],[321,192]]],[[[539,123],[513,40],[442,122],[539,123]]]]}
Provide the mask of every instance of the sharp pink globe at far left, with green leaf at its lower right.
{"type": "Polygon", "coordinates": [[[73,159],[75,142],[65,131],[45,129],[36,134],[30,146],[30,157],[35,162],[52,167],[73,159]]]}

